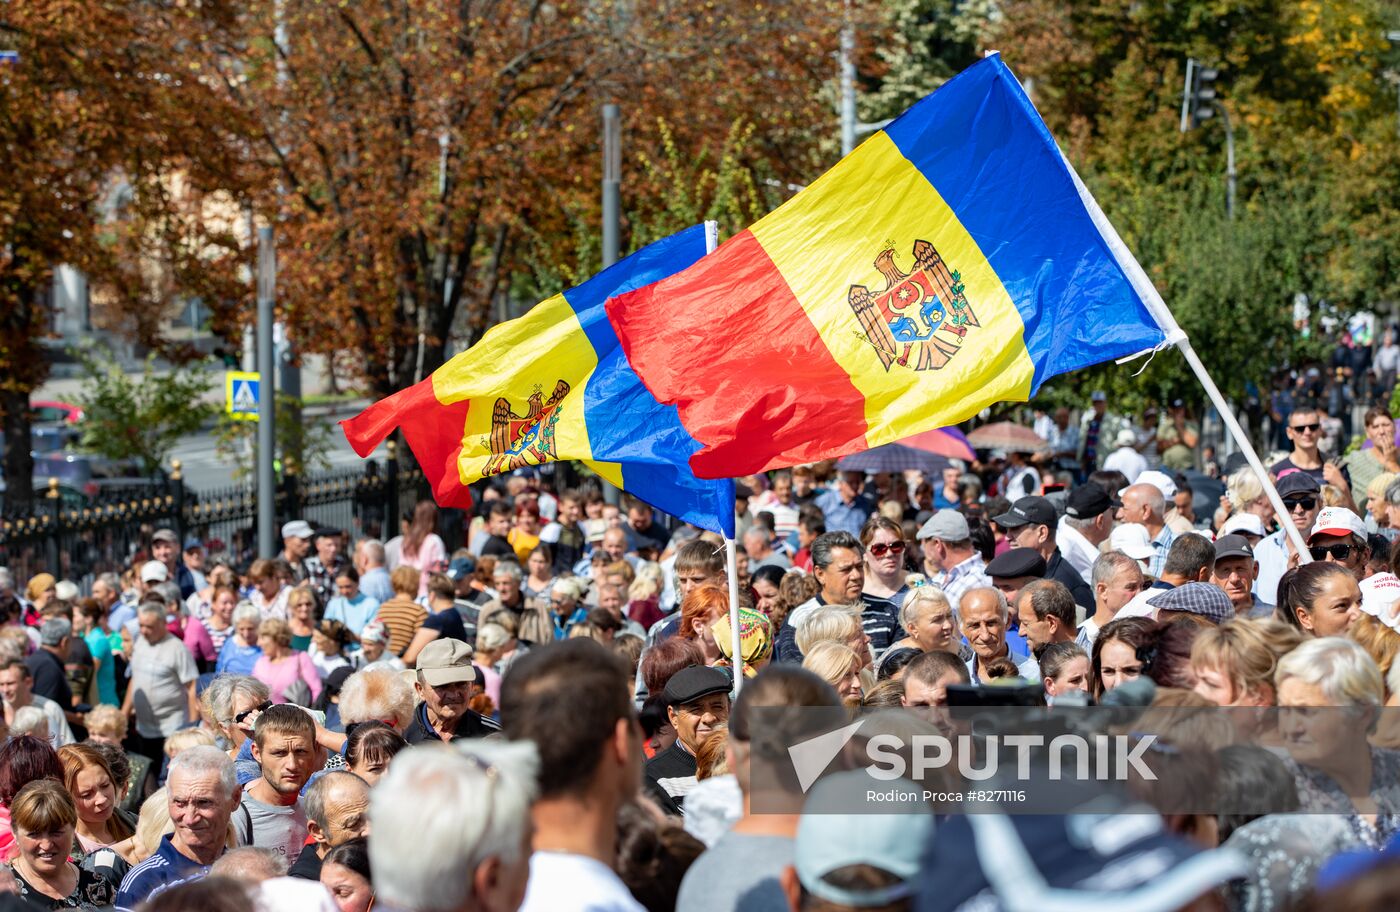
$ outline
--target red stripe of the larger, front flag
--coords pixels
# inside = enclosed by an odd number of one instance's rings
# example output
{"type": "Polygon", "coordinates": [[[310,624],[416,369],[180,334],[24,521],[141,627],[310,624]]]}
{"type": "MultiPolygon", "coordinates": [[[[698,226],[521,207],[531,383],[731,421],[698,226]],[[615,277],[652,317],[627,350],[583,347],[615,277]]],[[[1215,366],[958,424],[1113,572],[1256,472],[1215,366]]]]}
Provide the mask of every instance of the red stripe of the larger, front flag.
{"type": "Polygon", "coordinates": [[[748,231],[682,273],[610,298],[608,318],[641,381],[704,444],[690,458],[700,478],[867,447],[865,398],[748,231]]]}

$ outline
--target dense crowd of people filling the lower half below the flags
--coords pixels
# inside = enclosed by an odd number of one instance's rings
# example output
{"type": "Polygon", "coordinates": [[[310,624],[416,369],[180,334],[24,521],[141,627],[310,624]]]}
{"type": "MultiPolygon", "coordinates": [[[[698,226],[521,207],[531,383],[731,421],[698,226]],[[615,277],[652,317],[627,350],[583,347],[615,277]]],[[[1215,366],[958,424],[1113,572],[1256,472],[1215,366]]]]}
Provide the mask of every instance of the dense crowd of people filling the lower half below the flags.
{"type": "Polygon", "coordinates": [[[1267,479],[1306,553],[1183,405],[1140,447],[1096,394],[1035,452],[739,479],[738,607],[720,537],[531,472],[480,492],[456,549],[423,502],[386,542],[290,521],[246,566],[157,530],[81,584],[0,569],[0,887],[153,912],[1383,908],[1394,423],[1372,409],[1338,460],[1309,408],[1267,479]],[[1145,682],[1152,706],[1344,709],[1306,764],[1228,742],[1197,783],[1273,776],[1334,813],[823,808],[847,773],[753,801],[802,734],[770,707],[1019,686],[1054,712],[1145,682]]]}

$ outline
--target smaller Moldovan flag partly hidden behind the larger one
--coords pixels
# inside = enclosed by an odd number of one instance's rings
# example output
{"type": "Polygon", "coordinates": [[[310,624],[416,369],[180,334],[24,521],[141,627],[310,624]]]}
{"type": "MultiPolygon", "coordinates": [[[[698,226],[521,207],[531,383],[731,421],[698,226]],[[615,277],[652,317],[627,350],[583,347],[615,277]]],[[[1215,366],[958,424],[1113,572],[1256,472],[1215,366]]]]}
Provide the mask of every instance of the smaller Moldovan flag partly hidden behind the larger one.
{"type": "Polygon", "coordinates": [[[694,226],[491,326],[427,380],[342,422],[346,438],[367,457],[402,429],[442,506],[470,506],[466,486],[483,478],[580,460],[651,506],[732,538],[734,482],[690,472],[700,444],[675,406],[641,385],[603,311],[609,296],[704,252],[704,226],[694,226]]]}

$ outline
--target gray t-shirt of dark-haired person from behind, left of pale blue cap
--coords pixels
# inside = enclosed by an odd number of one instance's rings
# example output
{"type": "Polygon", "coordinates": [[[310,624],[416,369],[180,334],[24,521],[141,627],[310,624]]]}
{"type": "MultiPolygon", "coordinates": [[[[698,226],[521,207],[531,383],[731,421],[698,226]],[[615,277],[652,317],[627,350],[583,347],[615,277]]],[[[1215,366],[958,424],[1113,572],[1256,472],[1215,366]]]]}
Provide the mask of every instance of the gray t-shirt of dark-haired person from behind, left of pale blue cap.
{"type": "Polygon", "coordinates": [[[686,871],[676,912],[787,912],[778,876],[791,863],[785,836],[727,832],[686,871]]]}

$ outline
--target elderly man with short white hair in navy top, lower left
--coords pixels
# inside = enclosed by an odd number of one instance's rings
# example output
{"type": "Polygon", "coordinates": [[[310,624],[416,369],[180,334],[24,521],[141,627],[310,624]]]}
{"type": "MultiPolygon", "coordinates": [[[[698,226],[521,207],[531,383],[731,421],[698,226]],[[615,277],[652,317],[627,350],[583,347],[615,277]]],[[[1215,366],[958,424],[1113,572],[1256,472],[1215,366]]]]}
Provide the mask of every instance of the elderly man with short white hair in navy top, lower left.
{"type": "Polygon", "coordinates": [[[228,820],[242,792],[234,761],[210,745],[176,754],[165,789],[175,832],[164,836],[155,853],[122,880],[116,894],[116,908],[122,912],[171,887],[207,876],[209,867],[224,853],[228,820]]]}

